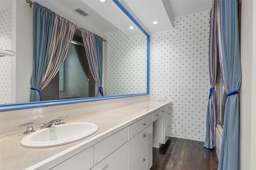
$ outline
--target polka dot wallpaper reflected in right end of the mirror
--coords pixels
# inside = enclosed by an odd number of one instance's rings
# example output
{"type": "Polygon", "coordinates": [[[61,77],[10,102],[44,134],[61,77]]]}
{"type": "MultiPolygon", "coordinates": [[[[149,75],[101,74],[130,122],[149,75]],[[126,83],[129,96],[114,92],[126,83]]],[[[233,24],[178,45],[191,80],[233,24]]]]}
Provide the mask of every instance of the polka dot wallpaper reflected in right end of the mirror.
{"type": "Polygon", "coordinates": [[[104,95],[146,93],[147,37],[127,37],[120,30],[105,36],[104,95]]]}

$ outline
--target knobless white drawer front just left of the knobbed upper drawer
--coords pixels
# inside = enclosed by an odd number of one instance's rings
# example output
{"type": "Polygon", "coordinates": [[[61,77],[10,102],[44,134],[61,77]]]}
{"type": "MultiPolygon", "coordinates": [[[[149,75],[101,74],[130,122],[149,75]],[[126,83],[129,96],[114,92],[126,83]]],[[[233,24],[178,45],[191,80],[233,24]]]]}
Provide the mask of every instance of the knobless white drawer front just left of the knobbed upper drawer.
{"type": "Polygon", "coordinates": [[[128,141],[128,127],[94,145],[94,166],[128,141]]]}

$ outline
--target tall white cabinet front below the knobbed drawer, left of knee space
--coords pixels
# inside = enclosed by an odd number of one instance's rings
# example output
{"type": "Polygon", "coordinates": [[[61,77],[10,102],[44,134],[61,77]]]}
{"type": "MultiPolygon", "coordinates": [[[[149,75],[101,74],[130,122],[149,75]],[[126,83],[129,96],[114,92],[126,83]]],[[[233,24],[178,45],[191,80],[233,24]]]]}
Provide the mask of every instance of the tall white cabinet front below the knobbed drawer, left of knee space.
{"type": "Polygon", "coordinates": [[[149,170],[152,166],[153,125],[129,140],[129,170],[149,170]]]}

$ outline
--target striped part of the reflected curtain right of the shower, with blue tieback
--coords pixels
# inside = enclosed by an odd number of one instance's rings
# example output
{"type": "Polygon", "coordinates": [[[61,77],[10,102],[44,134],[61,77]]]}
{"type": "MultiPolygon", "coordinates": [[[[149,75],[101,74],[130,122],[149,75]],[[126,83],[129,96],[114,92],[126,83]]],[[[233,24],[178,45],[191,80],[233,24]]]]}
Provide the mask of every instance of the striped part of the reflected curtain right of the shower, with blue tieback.
{"type": "MultiPolygon", "coordinates": [[[[100,80],[100,73],[99,73],[99,65],[97,59],[97,50],[95,44],[95,35],[87,30],[81,28],[81,34],[84,42],[84,48],[86,51],[88,63],[90,70],[92,72],[92,76],[99,88],[98,96],[103,96],[102,87],[101,87],[101,80],[100,80]]],[[[103,40],[103,39],[102,39],[103,40]]]]}

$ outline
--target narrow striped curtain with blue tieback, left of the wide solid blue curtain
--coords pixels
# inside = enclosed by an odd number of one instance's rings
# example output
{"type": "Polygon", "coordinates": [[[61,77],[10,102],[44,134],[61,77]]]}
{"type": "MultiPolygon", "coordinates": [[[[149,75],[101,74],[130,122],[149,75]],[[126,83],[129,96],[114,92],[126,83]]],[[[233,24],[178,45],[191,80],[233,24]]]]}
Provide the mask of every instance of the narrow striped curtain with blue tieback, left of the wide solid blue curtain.
{"type": "Polygon", "coordinates": [[[216,14],[218,14],[218,1],[212,1],[212,10],[210,12],[210,36],[209,36],[209,75],[210,75],[210,95],[206,113],[206,137],[204,147],[213,149],[215,147],[216,133],[216,70],[217,70],[217,55],[218,41],[216,30],[216,14]]]}

